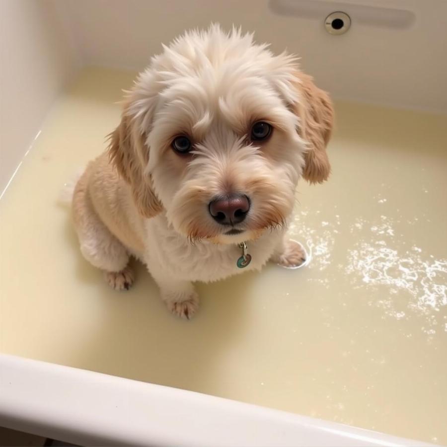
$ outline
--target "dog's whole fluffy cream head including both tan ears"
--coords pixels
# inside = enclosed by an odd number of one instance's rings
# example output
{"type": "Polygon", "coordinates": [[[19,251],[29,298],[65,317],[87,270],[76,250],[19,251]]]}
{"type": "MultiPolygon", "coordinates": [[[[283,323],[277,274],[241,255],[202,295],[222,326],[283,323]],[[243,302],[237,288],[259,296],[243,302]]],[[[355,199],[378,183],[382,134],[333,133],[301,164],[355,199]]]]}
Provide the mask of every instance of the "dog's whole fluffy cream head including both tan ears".
{"type": "Polygon", "coordinates": [[[284,224],[298,179],[330,171],[332,105],[295,61],[219,26],[153,57],[109,148],[140,213],[218,243],[284,224]]]}

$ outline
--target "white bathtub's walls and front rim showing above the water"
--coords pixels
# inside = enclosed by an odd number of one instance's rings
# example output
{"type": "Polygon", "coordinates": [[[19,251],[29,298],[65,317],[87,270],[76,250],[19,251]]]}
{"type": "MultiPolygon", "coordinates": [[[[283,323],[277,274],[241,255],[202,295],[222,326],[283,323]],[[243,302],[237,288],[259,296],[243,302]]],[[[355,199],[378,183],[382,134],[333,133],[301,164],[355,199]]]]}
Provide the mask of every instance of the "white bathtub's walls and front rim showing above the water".
{"type": "MultiPolygon", "coordinates": [[[[6,191],[56,98],[83,68],[140,70],[160,42],[211,21],[254,30],[276,52],[287,47],[298,53],[304,71],[336,99],[444,119],[446,16],[444,0],[3,0],[0,191],[6,191]],[[350,15],[351,28],[330,35],[324,19],[340,10],[350,15]]],[[[26,331],[20,321],[14,327],[26,331]]],[[[0,341],[15,336],[3,329],[0,341]]],[[[428,445],[61,366],[71,364],[68,357],[45,363],[31,360],[40,359],[37,351],[29,359],[6,352],[0,354],[0,426],[80,445],[428,445]]]]}

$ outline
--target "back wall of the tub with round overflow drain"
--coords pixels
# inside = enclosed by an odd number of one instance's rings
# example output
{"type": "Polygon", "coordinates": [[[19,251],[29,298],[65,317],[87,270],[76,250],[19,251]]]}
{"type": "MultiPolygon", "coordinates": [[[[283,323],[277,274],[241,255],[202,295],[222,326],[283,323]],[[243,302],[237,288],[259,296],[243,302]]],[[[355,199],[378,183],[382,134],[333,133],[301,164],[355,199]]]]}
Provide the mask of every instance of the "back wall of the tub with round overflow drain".
{"type": "Polygon", "coordinates": [[[447,113],[445,0],[63,3],[87,64],[142,69],[160,51],[160,42],[168,43],[186,28],[206,27],[211,21],[229,28],[234,23],[255,31],[256,39],[270,42],[275,52],[288,48],[297,53],[304,70],[336,98],[447,113]],[[377,7],[383,10],[376,12],[377,7]],[[295,15],[290,12],[294,9],[295,15]],[[393,9],[413,17],[406,25],[386,25],[393,9]],[[273,12],[281,10],[283,15],[273,12]],[[323,26],[326,15],[336,10],[352,18],[351,29],[342,36],[329,35],[323,26]]]}

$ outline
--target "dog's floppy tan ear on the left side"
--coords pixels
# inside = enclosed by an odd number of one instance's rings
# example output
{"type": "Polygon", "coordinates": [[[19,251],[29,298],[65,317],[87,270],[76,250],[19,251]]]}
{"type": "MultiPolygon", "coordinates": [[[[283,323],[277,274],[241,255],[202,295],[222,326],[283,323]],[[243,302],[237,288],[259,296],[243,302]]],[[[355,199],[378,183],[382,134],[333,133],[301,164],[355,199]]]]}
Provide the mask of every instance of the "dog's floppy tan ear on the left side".
{"type": "Polygon", "coordinates": [[[153,191],[150,175],[144,173],[149,161],[149,148],[132,118],[126,115],[126,110],[120,125],[109,138],[110,160],[130,185],[138,211],[146,218],[156,216],[163,208],[153,191]]]}

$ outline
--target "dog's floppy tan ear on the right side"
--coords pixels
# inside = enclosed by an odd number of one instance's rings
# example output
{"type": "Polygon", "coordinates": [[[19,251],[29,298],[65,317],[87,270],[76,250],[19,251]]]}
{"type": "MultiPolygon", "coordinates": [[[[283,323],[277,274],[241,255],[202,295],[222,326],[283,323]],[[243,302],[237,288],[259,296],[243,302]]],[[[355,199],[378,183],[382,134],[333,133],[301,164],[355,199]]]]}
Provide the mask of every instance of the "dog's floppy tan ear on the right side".
{"type": "Polygon", "coordinates": [[[334,109],[329,95],[320,90],[311,76],[298,72],[300,101],[298,116],[301,119],[301,137],[309,144],[306,152],[303,177],[310,183],[327,180],[331,165],[326,153],[333,123],[334,109]]]}

